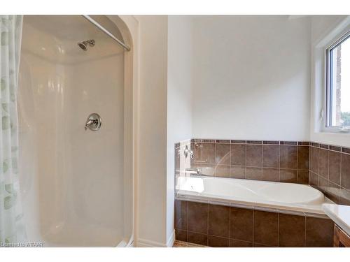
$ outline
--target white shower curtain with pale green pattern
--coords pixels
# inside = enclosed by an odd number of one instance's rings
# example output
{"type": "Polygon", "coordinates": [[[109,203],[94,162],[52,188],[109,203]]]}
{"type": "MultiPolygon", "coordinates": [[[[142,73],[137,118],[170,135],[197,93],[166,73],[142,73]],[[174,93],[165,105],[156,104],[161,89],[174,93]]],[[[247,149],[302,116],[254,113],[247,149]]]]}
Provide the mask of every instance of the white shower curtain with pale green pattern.
{"type": "Polygon", "coordinates": [[[18,179],[17,87],[22,15],[0,15],[0,247],[25,241],[18,179]]]}

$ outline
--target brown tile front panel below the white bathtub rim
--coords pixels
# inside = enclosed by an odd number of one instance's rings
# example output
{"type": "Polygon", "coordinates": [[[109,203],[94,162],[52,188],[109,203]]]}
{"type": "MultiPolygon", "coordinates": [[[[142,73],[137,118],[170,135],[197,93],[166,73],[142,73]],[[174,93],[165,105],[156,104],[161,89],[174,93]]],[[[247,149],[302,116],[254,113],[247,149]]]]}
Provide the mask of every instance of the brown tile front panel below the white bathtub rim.
{"type": "Polygon", "coordinates": [[[330,219],[175,202],[179,241],[209,247],[332,247],[330,219]]]}

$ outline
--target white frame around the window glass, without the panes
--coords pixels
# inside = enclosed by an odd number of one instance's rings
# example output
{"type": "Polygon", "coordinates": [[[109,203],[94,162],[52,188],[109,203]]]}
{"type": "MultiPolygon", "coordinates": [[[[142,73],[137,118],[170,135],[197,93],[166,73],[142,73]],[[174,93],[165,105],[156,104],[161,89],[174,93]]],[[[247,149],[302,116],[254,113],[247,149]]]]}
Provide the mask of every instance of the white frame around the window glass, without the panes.
{"type": "Polygon", "coordinates": [[[325,92],[323,92],[324,95],[324,107],[325,112],[322,113],[324,115],[323,119],[323,132],[327,133],[350,133],[350,129],[342,129],[342,126],[330,126],[330,117],[331,117],[331,99],[332,99],[332,78],[331,78],[331,63],[330,61],[330,51],[333,48],[336,48],[338,45],[342,44],[344,41],[350,41],[350,29],[346,29],[342,32],[342,34],[339,34],[336,38],[333,38],[332,41],[328,45],[325,46],[325,70],[324,70],[324,79],[325,79],[325,92]]]}

